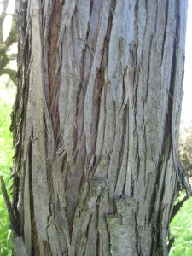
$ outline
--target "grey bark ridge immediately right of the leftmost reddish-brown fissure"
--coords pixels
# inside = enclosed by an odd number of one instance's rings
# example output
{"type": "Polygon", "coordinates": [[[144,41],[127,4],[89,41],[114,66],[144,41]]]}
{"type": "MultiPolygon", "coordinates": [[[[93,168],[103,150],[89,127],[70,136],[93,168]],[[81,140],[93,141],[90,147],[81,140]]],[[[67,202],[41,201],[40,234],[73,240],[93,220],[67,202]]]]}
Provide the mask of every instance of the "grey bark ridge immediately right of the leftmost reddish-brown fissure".
{"type": "MultiPolygon", "coordinates": [[[[77,3],[76,12],[77,20],[72,20],[71,36],[67,31],[63,35],[62,51],[62,68],[61,68],[61,90],[59,96],[59,113],[60,113],[60,129],[63,134],[64,147],[67,149],[67,161],[73,170],[73,143],[70,140],[73,138],[74,133],[74,121],[76,118],[76,99],[79,90],[79,84],[81,79],[81,60],[84,53],[85,41],[82,38],[86,38],[88,30],[88,13],[90,13],[90,1],[88,3],[77,3]],[[68,44],[69,38],[73,39],[68,44]],[[73,60],[73,62],[72,62],[73,60]],[[68,64],[67,64],[68,62],[68,64]],[[73,74],[71,76],[71,74],[73,74]],[[71,86],[69,86],[71,84],[71,86]],[[67,109],[71,109],[70,112],[67,109]]],[[[75,15],[76,16],[76,15],[75,15]]],[[[79,148],[80,149],[80,148],[79,148]]]]}

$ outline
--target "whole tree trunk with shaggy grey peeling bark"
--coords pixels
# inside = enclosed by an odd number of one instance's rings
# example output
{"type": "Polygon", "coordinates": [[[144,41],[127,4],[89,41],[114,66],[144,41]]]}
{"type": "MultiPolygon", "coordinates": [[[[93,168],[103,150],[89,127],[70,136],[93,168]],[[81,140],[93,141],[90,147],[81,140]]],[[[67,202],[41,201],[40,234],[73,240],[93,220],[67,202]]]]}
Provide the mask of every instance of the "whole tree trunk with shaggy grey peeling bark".
{"type": "Polygon", "coordinates": [[[185,178],[187,0],[16,0],[16,10],[16,255],[166,256],[185,178]]]}

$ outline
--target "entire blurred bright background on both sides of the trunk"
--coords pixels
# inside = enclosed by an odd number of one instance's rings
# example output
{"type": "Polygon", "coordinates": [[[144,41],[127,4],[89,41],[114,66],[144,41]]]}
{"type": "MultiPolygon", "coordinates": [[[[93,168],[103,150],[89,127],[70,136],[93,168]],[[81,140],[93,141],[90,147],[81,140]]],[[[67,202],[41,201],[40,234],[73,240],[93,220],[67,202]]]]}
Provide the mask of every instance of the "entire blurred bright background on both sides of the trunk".
{"type": "MultiPolygon", "coordinates": [[[[10,113],[15,100],[15,75],[17,54],[17,30],[15,26],[15,0],[0,1],[0,176],[3,176],[9,190],[9,179],[13,166],[12,134],[9,131],[10,113]]],[[[189,1],[186,58],[184,73],[184,96],[182,105],[181,128],[179,138],[180,159],[185,170],[192,176],[192,1],[189,1]]],[[[9,190],[10,194],[10,190],[9,190]]],[[[177,201],[181,201],[184,192],[177,201]]],[[[171,235],[175,237],[171,256],[192,255],[192,199],[186,201],[172,219],[171,235]]],[[[9,218],[0,189],[0,255],[11,255],[11,230],[9,218]]]]}

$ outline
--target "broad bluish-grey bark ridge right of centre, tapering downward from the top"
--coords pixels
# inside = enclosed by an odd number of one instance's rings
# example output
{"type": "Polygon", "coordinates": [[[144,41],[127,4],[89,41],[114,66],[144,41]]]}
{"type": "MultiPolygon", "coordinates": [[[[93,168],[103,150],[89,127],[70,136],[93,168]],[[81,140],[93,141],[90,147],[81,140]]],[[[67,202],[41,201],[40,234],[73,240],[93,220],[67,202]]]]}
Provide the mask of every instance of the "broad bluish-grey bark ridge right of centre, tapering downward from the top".
{"type": "Polygon", "coordinates": [[[132,86],[133,86],[133,84],[131,83],[128,84],[128,89],[127,89],[128,93],[124,96],[123,95],[123,91],[124,91],[123,75],[129,64],[128,63],[129,52],[131,48],[131,42],[134,40],[134,32],[126,31],[122,27],[123,27],[123,24],[125,24],[125,27],[134,26],[134,8],[135,8],[135,1],[133,1],[132,3],[125,3],[125,2],[116,3],[116,7],[113,13],[113,27],[112,27],[112,32],[111,32],[111,37],[109,42],[109,50],[108,50],[108,62],[109,62],[108,94],[107,94],[108,107],[106,108],[107,109],[107,119],[106,119],[107,129],[105,130],[105,137],[107,138],[107,140],[105,142],[105,148],[106,148],[107,154],[110,155],[110,163],[108,167],[108,180],[110,181],[109,196],[111,197],[113,197],[113,192],[115,189],[116,179],[118,175],[118,169],[120,167],[119,160],[120,160],[120,154],[122,151],[121,134],[124,129],[123,128],[124,122],[122,121],[122,113],[128,101],[129,90],[131,93],[132,86]],[[120,19],[119,16],[121,16],[122,14],[123,14],[123,19],[120,19]],[[120,23],[118,20],[120,20],[120,23]],[[117,27],[119,27],[119,30],[117,29],[117,27]],[[116,50],[118,52],[118,55],[114,54],[116,50]],[[110,127],[111,125],[112,127],[110,127]],[[113,144],[111,143],[111,139],[108,137],[114,138],[113,144]],[[118,161],[116,161],[115,159],[118,159],[118,161]]]}

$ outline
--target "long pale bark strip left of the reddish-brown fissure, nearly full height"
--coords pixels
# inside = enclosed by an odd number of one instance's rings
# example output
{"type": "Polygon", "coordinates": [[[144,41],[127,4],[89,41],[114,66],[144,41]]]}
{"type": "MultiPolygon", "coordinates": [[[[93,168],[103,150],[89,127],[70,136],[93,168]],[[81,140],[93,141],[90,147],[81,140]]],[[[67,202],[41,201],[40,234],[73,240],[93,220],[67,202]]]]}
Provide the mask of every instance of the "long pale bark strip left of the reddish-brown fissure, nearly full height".
{"type": "MultiPolygon", "coordinates": [[[[49,189],[47,183],[47,148],[44,137],[44,111],[46,102],[44,100],[44,82],[42,74],[43,52],[40,37],[39,14],[40,6],[34,1],[30,6],[32,18],[32,55],[34,63],[30,73],[30,101],[29,116],[32,118],[32,191],[34,203],[34,218],[37,227],[38,240],[47,241],[47,219],[49,216],[49,189]],[[36,19],[35,19],[36,17],[36,19]],[[38,19],[37,19],[38,18],[38,19]],[[35,87],[35,84],[39,84],[35,87]],[[39,215],[38,215],[39,214],[39,215]]],[[[30,125],[29,122],[26,125],[30,125]]],[[[49,152],[48,152],[49,154],[49,152]]],[[[41,249],[41,248],[40,248],[41,249]]]]}

